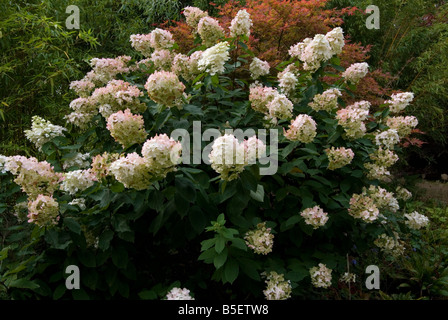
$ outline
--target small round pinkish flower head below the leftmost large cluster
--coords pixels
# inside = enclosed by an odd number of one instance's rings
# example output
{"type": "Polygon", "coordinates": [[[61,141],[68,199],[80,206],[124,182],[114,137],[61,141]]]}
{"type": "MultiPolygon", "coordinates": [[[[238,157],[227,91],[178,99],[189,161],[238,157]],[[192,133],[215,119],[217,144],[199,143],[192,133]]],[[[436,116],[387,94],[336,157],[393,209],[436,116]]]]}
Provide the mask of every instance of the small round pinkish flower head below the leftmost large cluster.
{"type": "Polygon", "coordinates": [[[28,222],[40,227],[50,227],[59,221],[59,204],[52,196],[39,194],[28,202],[28,222]]]}

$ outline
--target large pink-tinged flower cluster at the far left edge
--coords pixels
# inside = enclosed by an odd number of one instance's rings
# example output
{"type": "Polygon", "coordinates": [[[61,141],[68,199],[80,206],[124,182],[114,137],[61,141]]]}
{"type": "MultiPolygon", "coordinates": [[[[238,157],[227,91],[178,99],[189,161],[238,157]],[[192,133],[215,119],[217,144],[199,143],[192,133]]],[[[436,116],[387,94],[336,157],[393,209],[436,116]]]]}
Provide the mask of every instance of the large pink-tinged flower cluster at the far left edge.
{"type": "Polygon", "coordinates": [[[34,199],[39,194],[53,195],[59,188],[61,173],[54,171],[47,161],[23,156],[9,157],[5,163],[7,171],[16,176],[14,182],[22,187],[29,198],[34,199]]]}

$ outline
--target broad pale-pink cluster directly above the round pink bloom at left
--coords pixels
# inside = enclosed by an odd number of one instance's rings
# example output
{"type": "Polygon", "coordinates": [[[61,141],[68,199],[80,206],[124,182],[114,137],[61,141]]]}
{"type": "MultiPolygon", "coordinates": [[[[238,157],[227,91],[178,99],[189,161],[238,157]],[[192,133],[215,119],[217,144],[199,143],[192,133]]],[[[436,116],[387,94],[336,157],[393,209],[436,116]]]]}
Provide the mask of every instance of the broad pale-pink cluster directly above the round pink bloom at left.
{"type": "Polygon", "coordinates": [[[101,115],[108,119],[111,114],[131,110],[132,113],[143,113],[146,104],[140,102],[139,97],[143,96],[136,86],[123,80],[111,80],[107,86],[96,89],[91,97],[92,103],[99,105],[101,115]]]}

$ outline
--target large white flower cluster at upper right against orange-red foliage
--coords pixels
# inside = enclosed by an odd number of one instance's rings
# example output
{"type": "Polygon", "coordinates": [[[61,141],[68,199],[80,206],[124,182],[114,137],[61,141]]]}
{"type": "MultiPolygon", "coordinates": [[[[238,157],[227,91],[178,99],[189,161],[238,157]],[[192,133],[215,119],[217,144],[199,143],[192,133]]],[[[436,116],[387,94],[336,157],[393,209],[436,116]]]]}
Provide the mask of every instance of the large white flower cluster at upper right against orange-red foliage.
{"type": "Polygon", "coordinates": [[[316,34],[313,39],[306,38],[289,49],[291,57],[297,57],[304,63],[303,69],[316,71],[321,63],[342,52],[344,35],[342,28],[337,27],[327,34],[316,34]]]}

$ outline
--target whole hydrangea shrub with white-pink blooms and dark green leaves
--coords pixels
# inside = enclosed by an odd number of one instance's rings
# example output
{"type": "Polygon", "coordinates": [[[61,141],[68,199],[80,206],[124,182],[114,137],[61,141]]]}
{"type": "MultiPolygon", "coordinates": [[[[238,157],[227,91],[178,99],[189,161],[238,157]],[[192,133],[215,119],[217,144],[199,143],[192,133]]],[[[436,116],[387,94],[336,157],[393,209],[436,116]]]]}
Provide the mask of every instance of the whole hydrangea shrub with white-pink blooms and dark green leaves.
{"type": "Polygon", "coordinates": [[[342,28],[294,44],[273,72],[247,46],[246,10],[228,28],[198,8],[184,14],[188,54],[166,30],[130,36],[142,59],[92,59],[71,85],[67,128],[33,119],[42,160],[0,156],[33,254],[8,283],[33,284],[17,297],[318,297],[356,278],[347,255],[403,253],[401,239],[427,225],[400,209],[406,189],[385,184],[418,123],[400,115],[413,95],[374,113],[347,105],[342,93],[368,65],[339,65],[342,28]],[[331,84],[329,66],[342,75],[331,84]],[[82,280],[70,292],[62,273],[73,264],[82,280]]]}

